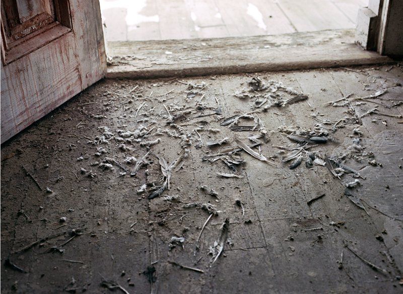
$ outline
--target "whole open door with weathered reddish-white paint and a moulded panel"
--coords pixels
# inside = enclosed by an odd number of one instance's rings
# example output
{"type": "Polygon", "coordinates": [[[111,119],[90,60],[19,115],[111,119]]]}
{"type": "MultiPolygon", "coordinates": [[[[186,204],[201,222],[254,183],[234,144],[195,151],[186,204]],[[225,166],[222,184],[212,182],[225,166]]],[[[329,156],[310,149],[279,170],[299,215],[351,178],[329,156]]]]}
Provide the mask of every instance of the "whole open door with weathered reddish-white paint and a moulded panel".
{"type": "Polygon", "coordinates": [[[101,79],[98,0],[1,0],[1,142],[101,79]]]}

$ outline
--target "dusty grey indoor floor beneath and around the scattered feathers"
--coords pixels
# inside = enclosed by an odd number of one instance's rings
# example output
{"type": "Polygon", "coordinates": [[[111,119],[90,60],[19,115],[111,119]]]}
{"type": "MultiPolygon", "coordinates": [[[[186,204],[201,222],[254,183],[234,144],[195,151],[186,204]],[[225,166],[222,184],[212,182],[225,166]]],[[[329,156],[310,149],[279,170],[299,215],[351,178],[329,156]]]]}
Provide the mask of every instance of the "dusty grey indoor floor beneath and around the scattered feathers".
{"type": "Polygon", "coordinates": [[[402,73],[398,65],[262,73],[269,87],[256,91],[248,84],[254,75],[245,74],[98,82],[2,146],[2,293],[401,292],[402,73]],[[309,99],[272,106],[294,91],[309,99]],[[335,103],[342,106],[323,105],[346,96],[335,103]],[[395,117],[365,115],[375,108],[395,117]],[[253,131],[220,125],[252,111],[255,120],[238,125],[253,131]],[[296,146],[291,127],[327,140],[307,149],[313,139],[303,139],[295,169],[295,159],[282,162],[293,151],[274,146],[296,146]],[[270,141],[253,139],[261,143],[253,150],[277,166],[244,151],[236,153],[244,163],[230,164],[236,171],[221,159],[202,160],[236,147],[235,137],[252,145],[247,137],[265,132],[270,141]],[[318,164],[306,167],[305,150],[318,164]],[[338,179],[321,165],[326,156],[361,177],[329,161],[338,179]],[[163,174],[170,189],[148,199],[152,187],[142,192],[142,185],[160,187],[163,174]],[[357,205],[345,194],[356,179],[361,185],[347,194],[357,205]],[[186,208],[191,203],[213,207],[186,208]]]}

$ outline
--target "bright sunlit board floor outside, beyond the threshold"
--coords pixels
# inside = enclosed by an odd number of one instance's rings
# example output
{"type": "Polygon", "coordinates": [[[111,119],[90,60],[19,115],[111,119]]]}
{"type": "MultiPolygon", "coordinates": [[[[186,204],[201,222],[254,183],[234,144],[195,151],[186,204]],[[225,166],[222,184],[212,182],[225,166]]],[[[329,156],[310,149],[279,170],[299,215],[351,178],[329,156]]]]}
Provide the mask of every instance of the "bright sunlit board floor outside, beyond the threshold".
{"type": "Polygon", "coordinates": [[[100,0],[107,41],[277,35],[355,27],[368,0],[100,0]]]}

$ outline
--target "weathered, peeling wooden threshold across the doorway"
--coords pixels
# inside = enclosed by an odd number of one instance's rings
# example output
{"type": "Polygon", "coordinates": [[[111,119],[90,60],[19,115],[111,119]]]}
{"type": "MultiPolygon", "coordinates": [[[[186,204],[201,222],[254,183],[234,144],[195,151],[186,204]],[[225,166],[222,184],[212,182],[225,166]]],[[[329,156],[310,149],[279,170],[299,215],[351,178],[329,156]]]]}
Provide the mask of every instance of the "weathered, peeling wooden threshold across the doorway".
{"type": "Polygon", "coordinates": [[[393,63],[354,43],[355,30],[109,42],[107,78],[158,78],[393,63]]]}

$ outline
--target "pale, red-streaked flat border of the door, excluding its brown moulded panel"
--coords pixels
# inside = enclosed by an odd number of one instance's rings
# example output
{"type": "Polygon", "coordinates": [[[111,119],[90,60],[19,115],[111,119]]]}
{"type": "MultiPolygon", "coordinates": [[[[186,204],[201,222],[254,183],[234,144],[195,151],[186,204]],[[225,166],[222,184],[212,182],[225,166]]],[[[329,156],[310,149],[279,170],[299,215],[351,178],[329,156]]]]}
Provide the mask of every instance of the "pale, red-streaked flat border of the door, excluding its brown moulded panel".
{"type": "Polygon", "coordinates": [[[102,78],[99,3],[70,1],[73,31],[1,68],[1,142],[102,78]]]}

